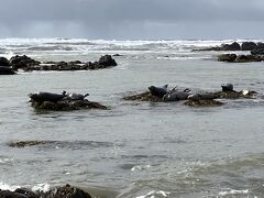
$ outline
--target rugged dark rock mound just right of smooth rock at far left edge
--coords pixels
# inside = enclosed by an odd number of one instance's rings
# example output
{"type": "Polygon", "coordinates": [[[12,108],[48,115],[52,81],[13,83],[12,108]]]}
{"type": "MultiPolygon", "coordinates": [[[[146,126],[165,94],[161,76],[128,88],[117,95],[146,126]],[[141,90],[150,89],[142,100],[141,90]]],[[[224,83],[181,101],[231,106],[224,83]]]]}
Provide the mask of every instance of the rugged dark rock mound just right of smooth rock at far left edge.
{"type": "Polygon", "coordinates": [[[41,62],[32,59],[25,55],[23,55],[23,56],[16,55],[16,56],[11,57],[11,59],[10,59],[10,65],[15,69],[33,67],[33,66],[37,66],[40,64],[41,64],[41,62]]]}

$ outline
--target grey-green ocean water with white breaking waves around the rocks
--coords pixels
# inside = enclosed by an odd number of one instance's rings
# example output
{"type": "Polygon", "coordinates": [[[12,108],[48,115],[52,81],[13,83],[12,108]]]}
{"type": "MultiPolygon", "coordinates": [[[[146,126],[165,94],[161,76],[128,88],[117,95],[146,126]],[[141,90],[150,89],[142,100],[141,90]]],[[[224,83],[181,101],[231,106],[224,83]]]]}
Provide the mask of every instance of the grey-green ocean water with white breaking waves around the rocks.
{"type": "Polygon", "coordinates": [[[0,189],[70,184],[102,198],[264,197],[263,63],[193,51],[231,42],[0,38],[8,58],[121,55],[108,69],[0,76],[0,189]],[[221,107],[122,99],[151,85],[216,91],[227,82],[260,96],[221,99],[221,107]],[[30,92],[62,90],[89,92],[110,110],[35,111],[28,102],[30,92]],[[19,148],[12,141],[50,143],[19,148]]]}

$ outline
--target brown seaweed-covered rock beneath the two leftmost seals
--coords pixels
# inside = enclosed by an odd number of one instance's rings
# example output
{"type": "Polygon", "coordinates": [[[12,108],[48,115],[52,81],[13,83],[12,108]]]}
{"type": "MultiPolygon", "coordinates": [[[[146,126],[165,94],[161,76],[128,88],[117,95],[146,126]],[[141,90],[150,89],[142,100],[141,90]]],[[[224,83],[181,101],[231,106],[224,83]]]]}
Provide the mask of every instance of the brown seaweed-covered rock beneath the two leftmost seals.
{"type": "Polygon", "coordinates": [[[52,110],[52,111],[69,111],[69,110],[81,110],[81,109],[102,109],[107,110],[108,107],[98,102],[84,100],[61,100],[57,102],[52,101],[32,101],[32,107],[36,110],[52,110]]]}

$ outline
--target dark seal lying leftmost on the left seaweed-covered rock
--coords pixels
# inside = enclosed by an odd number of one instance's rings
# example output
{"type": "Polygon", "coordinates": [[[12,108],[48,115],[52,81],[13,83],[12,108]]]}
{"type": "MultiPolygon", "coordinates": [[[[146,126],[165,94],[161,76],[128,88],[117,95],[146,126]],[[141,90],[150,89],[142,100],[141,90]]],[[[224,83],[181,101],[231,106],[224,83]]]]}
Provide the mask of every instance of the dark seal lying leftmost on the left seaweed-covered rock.
{"type": "Polygon", "coordinates": [[[31,98],[31,101],[35,101],[35,102],[44,102],[44,101],[57,102],[63,98],[65,98],[65,95],[58,95],[58,94],[52,94],[52,92],[33,92],[33,94],[30,94],[29,97],[31,98]]]}

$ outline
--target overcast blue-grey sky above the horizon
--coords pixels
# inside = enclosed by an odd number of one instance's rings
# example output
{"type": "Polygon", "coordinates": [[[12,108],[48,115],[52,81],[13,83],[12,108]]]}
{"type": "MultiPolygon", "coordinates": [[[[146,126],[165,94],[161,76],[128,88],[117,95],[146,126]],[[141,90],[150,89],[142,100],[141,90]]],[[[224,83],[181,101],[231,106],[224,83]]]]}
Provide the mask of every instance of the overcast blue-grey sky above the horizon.
{"type": "Polygon", "coordinates": [[[263,38],[264,0],[1,0],[0,37],[263,38]]]}

